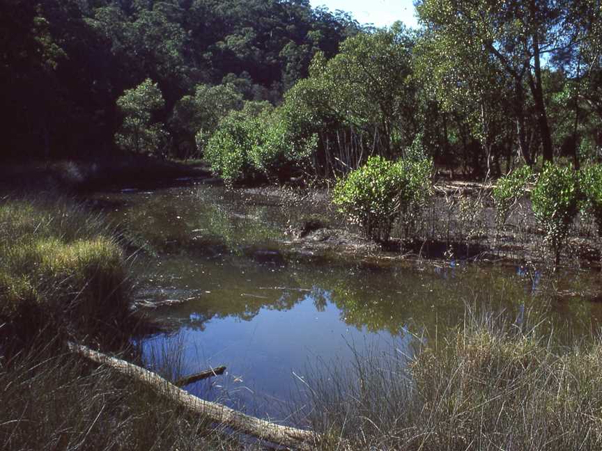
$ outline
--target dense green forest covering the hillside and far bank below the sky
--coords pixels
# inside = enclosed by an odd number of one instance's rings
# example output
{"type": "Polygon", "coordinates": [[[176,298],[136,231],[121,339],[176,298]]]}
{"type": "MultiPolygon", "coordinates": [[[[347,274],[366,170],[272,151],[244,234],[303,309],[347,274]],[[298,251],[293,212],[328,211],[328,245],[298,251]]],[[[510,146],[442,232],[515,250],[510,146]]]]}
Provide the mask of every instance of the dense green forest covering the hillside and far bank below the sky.
{"type": "Polygon", "coordinates": [[[602,149],[601,8],[422,0],[409,30],[307,0],[1,0],[3,158],[209,149],[219,166],[236,138],[234,178],[412,146],[474,177],[578,166],[602,149]]]}

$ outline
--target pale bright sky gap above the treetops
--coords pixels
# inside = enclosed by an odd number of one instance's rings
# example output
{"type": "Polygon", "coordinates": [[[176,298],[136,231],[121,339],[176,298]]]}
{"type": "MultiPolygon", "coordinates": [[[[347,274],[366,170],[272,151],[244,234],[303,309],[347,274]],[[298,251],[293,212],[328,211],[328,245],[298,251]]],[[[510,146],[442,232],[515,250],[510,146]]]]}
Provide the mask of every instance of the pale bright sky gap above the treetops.
{"type": "Polygon", "coordinates": [[[388,26],[401,20],[406,26],[416,26],[413,0],[311,0],[311,6],[325,5],[331,11],[340,9],[353,14],[357,22],[388,26]]]}

